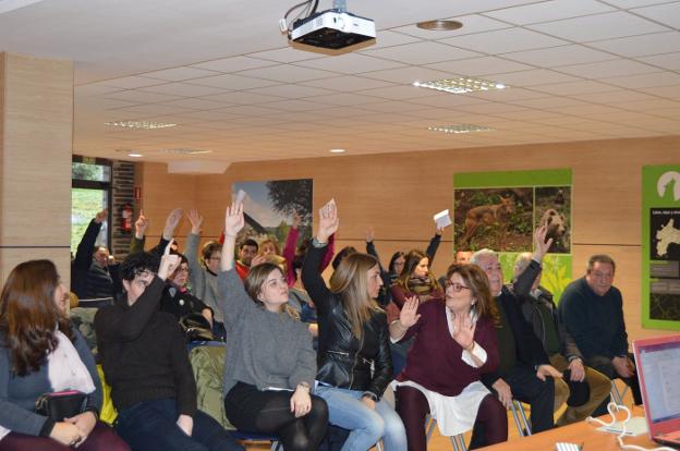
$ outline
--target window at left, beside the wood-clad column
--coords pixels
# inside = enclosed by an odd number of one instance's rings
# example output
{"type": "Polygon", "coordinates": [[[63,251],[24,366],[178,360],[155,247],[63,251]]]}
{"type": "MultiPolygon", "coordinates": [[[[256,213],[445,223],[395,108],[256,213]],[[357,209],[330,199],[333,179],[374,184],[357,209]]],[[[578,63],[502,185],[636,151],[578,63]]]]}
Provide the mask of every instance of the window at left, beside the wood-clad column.
{"type": "Polygon", "coordinates": [[[99,158],[73,157],[71,167],[71,254],[75,255],[89,221],[102,209],[109,209],[97,245],[111,241],[111,162],[99,158]]]}

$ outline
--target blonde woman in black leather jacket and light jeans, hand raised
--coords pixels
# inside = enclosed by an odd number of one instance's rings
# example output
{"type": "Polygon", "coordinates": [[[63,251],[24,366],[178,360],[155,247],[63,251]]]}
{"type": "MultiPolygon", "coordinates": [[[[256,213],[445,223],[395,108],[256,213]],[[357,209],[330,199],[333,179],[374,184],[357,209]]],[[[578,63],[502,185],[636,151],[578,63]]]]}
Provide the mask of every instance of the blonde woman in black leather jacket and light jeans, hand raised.
{"type": "Polygon", "coordinates": [[[330,278],[319,272],[328,237],[338,229],[335,202],[320,210],[302,281],[316,306],[319,341],[317,394],[326,400],[332,425],[349,429],[342,451],[365,451],[382,440],[386,451],[405,451],[399,415],[381,399],[392,378],[387,318],[375,298],[382,280],[375,257],[345,256],[330,278]]]}

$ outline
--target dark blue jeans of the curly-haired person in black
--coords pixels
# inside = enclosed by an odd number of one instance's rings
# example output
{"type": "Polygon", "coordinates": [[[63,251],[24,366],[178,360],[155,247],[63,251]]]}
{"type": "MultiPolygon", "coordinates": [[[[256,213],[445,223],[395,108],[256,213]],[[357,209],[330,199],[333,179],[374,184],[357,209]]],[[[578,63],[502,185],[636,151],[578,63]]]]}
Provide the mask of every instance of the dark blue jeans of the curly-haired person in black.
{"type": "Polygon", "coordinates": [[[116,431],[134,451],[243,451],[211,416],[196,411],[191,437],[177,425],[175,400],[144,401],[118,413],[116,431]]]}

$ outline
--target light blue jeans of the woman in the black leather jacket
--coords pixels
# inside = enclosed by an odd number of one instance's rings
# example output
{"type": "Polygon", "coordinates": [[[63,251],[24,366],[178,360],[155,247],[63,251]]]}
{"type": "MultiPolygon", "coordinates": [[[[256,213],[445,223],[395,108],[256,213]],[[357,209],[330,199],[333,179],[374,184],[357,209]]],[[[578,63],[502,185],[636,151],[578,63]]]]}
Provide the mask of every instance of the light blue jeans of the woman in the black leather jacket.
{"type": "Polygon", "coordinates": [[[317,386],[315,394],[328,404],[328,422],[351,430],[341,451],[366,451],[382,439],[385,451],[406,451],[406,430],[384,400],[375,410],[361,401],[362,391],[317,386]]]}

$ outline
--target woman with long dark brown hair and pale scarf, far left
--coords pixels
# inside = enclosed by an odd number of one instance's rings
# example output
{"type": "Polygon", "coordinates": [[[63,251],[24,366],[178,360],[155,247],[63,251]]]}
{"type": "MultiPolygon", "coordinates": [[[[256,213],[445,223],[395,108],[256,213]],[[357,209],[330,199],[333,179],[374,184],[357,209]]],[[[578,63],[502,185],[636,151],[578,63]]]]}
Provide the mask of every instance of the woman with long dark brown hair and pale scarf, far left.
{"type": "Polygon", "coordinates": [[[97,418],[95,359],[65,314],[69,292],[50,260],[17,265],[0,295],[0,451],[129,451],[97,418]],[[56,391],[86,394],[83,412],[53,419],[35,412],[56,391]]]}

